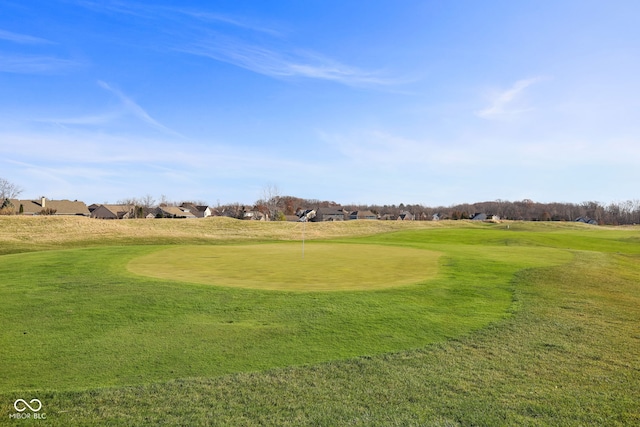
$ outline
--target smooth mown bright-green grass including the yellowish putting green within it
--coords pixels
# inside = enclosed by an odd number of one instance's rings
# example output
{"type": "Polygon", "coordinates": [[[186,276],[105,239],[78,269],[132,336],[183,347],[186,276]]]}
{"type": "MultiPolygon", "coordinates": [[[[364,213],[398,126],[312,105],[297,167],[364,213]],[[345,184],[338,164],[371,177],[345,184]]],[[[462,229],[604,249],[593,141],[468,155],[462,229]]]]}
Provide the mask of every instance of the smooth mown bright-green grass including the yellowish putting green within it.
{"type": "Polygon", "coordinates": [[[125,386],[420,348],[509,316],[514,274],[571,259],[458,233],[311,241],[304,258],[299,241],[163,239],[4,255],[0,387],[125,386]]]}

